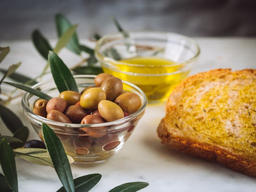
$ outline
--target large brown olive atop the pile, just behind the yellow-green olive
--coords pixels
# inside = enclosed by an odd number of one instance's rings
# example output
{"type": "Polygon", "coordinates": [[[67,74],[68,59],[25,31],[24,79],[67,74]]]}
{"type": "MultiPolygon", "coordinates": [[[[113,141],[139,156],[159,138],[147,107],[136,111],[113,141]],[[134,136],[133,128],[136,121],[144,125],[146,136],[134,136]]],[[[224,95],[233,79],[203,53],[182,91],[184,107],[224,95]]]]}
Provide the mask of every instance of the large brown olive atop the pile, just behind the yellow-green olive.
{"type": "Polygon", "coordinates": [[[123,91],[123,83],[121,79],[116,77],[108,77],[101,84],[100,88],[105,91],[107,100],[114,101],[123,91]]]}

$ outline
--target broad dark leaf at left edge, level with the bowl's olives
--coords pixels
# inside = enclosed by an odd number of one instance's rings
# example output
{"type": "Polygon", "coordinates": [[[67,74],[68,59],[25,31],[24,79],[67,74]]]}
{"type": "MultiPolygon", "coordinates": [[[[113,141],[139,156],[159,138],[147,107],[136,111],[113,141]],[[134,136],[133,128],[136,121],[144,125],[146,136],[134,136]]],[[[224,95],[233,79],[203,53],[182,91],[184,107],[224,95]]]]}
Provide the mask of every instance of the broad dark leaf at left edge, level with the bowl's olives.
{"type": "Polygon", "coordinates": [[[20,118],[16,116],[10,109],[0,105],[0,116],[6,127],[12,132],[16,132],[23,126],[20,118]]]}

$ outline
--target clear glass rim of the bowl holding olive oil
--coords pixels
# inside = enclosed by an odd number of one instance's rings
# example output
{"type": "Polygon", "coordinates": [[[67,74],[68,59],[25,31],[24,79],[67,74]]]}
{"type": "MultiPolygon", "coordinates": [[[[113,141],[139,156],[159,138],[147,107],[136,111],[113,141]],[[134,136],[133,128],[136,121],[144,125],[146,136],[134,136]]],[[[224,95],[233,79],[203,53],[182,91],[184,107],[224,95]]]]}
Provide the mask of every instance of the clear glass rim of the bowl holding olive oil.
{"type": "Polygon", "coordinates": [[[201,52],[199,45],[196,43],[196,41],[194,39],[192,39],[191,37],[188,37],[188,36],[181,35],[179,33],[173,33],[173,32],[168,32],[168,31],[161,31],[161,30],[148,30],[148,29],[127,30],[127,31],[124,31],[124,32],[114,32],[114,33],[107,34],[105,36],[102,36],[96,42],[94,53],[95,53],[96,58],[99,61],[110,62],[110,65],[111,65],[111,63],[114,63],[115,65],[128,65],[128,66],[134,66],[134,67],[152,67],[152,68],[154,68],[154,67],[163,67],[163,68],[167,68],[167,67],[175,67],[175,66],[181,66],[181,65],[186,65],[188,63],[191,63],[191,62],[195,61],[198,58],[198,56],[200,55],[200,52],[201,52]],[[138,64],[124,63],[124,62],[120,62],[118,60],[112,59],[108,56],[104,56],[100,53],[100,51],[99,51],[100,50],[100,44],[103,41],[107,40],[108,38],[110,38],[112,36],[118,36],[118,35],[123,35],[123,38],[121,38],[121,39],[129,38],[129,37],[124,36],[124,32],[126,32],[126,33],[138,33],[138,32],[139,33],[141,33],[141,32],[144,32],[144,33],[159,33],[159,34],[164,34],[164,35],[171,34],[171,35],[180,36],[180,37],[188,40],[192,44],[194,44],[196,46],[197,51],[196,51],[196,54],[193,57],[189,58],[188,60],[186,60],[184,62],[175,62],[175,64],[170,64],[170,65],[138,65],[138,64]]]}

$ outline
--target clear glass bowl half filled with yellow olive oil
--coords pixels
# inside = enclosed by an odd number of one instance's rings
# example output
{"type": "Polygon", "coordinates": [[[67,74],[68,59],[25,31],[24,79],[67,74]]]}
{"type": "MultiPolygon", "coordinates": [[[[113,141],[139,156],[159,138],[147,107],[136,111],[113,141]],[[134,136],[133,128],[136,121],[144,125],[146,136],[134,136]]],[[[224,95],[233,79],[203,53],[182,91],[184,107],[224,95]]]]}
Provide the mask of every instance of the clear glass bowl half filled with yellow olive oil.
{"type": "Polygon", "coordinates": [[[95,48],[103,71],[140,87],[150,103],[170,95],[199,53],[198,44],[187,36],[152,30],[112,33],[95,48]]]}

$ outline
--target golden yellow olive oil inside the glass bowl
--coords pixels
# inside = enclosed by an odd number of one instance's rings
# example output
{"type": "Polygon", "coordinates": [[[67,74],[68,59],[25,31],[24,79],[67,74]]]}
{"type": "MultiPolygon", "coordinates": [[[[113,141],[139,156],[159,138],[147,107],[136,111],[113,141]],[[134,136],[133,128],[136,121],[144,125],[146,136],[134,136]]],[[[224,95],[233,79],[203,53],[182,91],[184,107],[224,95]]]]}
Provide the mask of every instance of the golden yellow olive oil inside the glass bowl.
{"type": "Polygon", "coordinates": [[[103,66],[103,70],[124,81],[137,85],[145,92],[149,102],[166,99],[174,86],[188,76],[181,70],[184,64],[159,57],[133,57],[103,66]],[[112,67],[114,66],[114,68],[112,67]]]}

